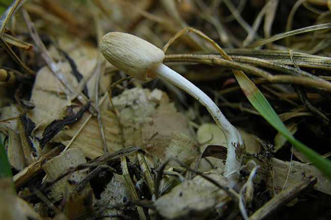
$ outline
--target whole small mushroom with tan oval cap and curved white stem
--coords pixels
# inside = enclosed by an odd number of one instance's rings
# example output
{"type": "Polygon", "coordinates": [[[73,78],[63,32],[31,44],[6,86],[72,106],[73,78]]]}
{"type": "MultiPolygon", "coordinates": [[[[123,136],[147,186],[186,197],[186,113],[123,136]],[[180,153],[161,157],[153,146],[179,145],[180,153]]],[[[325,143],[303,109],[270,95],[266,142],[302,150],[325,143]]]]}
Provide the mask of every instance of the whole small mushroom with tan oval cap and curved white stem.
{"type": "Polygon", "coordinates": [[[240,168],[234,147],[234,143],[243,144],[239,132],[202,90],[162,64],[164,52],[161,49],[139,37],[121,32],[111,32],[104,35],[100,47],[108,62],[128,75],[144,82],[151,81],[158,76],[183,89],[205,106],[225,134],[228,142],[226,173],[230,174],[240,168]]]}

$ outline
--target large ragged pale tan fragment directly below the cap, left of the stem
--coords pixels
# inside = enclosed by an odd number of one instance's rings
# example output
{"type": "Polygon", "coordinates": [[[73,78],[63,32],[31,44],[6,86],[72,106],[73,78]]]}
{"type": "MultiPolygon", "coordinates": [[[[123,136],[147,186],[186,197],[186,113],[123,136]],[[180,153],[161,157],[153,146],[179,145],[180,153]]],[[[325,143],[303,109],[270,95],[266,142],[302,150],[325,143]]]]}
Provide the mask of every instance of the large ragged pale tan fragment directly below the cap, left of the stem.
{"type": "Polygon", "coordinates": [[[165,92],[135,87],[112,100],[120,115],[125,147],[139,145],[151,154],[162,155],[172,132],[193,138],[188,119],[177,112],[165,92]]]}

